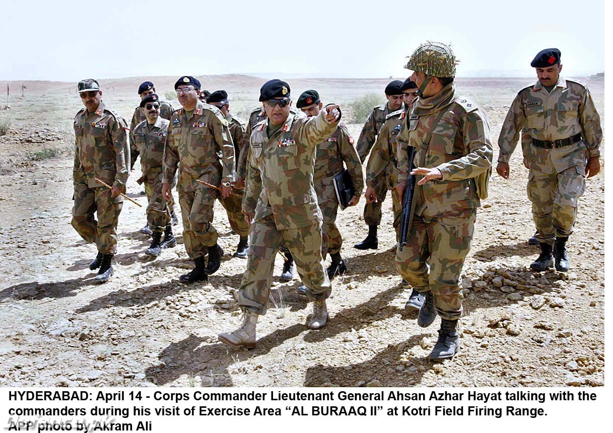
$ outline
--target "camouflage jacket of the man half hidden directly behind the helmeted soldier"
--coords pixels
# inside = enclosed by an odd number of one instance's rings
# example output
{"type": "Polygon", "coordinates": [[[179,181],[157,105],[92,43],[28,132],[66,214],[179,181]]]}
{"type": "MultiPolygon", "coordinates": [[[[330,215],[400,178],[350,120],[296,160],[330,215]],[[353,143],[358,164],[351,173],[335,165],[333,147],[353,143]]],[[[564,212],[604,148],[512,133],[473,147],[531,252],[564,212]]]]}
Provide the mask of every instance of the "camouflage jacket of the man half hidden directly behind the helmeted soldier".
{"type": "Polygon", "coordinates": [[[389,113],[379,130],[375,146],[366,165],[366,184],[375,188],[382,176],[387,176],[390,189],[398,183],[398,133],[405,122],[404,108],[389,113]]]}

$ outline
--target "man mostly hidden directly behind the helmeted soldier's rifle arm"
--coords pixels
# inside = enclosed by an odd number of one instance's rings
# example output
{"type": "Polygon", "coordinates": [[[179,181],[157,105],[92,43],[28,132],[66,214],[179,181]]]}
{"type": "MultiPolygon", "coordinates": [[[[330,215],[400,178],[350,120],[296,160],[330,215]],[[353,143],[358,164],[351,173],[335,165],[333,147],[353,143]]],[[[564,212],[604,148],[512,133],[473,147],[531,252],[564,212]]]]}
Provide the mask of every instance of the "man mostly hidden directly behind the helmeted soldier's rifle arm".
{"type": "Polygon", "coordinates": [[[398,184],[397,138],[402,124],[406,122],[406,111],[417,97],[417,86],[414,81],[407,78],[400,91],[403,94],[404,107],[387,115],[383,126],[379,129],[377,140],[373,146],[368,164],[366,165],[366,196],[367,201],[376,203],[383,201],[377,195],[379,185],[387,185],[392,190],[392,209],[394,211],[394,228],[396,241],[400,230],[400,213],[402,212],[402,198],[398,195],[395,186],[398,184]]]}

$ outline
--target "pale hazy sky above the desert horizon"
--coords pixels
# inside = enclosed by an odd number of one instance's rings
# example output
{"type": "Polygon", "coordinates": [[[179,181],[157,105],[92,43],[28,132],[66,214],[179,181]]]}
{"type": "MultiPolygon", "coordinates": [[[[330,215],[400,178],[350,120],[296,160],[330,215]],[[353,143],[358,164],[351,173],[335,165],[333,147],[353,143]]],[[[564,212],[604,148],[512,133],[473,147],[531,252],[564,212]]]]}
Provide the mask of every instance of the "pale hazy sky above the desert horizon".
{"type": "Polygon", "coordinates": [[[596,0],[1,0],[0,20],[0,80],[401,77],[425,40],[451,43],[459,76],[531,77],[531,59],[549,47],[579,76],[604,71],[606,53],[596,0]]]}

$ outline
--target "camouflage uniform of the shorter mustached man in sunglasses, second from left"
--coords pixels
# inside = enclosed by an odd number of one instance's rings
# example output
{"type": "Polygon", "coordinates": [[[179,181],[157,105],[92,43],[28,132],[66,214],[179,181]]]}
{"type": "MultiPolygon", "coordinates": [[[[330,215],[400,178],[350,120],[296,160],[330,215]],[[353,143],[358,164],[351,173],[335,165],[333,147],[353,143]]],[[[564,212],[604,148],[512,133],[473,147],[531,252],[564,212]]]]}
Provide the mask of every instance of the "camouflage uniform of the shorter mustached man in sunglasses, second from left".
{"type": "Polygon", "coordinates": [[[147,224],[154,232],[162,232],[170,222],[170,213],[174,208],[172,194],[170,199],[162,196],[162,160],[168,135],[170,121],[158,119],[150,128],[145,120],[137,124],[130,132],[130,142],[133,143],[137,155],[140,155],[140,167],[143,175],[137,183],[145,183],[147,192],[147,224]]]}

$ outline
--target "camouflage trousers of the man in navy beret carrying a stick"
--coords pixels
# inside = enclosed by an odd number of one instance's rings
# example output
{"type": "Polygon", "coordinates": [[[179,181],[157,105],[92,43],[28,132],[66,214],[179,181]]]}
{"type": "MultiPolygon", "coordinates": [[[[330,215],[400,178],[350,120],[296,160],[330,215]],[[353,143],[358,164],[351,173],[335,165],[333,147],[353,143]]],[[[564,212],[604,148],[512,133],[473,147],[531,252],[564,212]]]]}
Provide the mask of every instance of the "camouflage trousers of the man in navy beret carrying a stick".
{"type": "Polygon", "coordinates": [[[210,188],[179,192],[179,206],[183,218],[183,243],[189,258],[204,257],[207,247],[217,243],[213,222],[213,206],[218,192],[210,188]]]}

